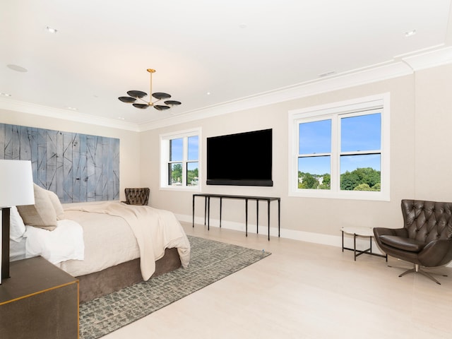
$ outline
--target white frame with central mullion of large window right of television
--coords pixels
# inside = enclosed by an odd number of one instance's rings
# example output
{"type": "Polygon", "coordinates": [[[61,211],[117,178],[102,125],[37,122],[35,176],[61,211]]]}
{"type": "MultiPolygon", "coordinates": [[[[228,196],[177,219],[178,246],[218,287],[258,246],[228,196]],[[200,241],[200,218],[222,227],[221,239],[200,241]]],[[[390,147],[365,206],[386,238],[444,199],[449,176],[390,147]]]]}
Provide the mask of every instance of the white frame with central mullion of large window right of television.
{"type": "MultiPolygon", "coordinates": [[[[390,95],[372,95],[343,102],[290,110],[289,123],[289,196],[311,198],[340,198],[355,200],[390,201],[390,95]],[[381,113],[381,191],[342,191],[340,190],[340,117],[352,117],[381,113]],[[332,119],[331,121],[331,189],[298,188],[299,124],[303,122],[332,119]],[[338,126],[339,125],[339,126],[338,126]],[[334,179],[333,179],[334,176],[334,179]]],[[[357,154],[357,152],[352,152],[357,154]]],[[[369,152],[364,152],[369,153],[369,152]]]]}

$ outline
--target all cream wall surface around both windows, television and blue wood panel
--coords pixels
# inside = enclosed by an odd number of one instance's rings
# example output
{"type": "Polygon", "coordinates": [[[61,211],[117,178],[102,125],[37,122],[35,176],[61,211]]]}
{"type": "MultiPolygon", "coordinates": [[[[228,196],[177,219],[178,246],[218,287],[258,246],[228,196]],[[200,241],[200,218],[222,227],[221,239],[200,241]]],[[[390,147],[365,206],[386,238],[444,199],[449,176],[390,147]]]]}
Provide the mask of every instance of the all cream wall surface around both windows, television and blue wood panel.
{"type": "MultiPolygon", "coordinates": [[[[201,169],[206,172],[207,137],[272,128],[273,187],[206,186],[204,177],[201,191],[280,196],[282,237],[339,246],[339,230],[344,225],[401,227],[400,200],[403,198],[452,201],[452,182],[449,179],[452,160],[448,155],[452,131],[452,95],[448,88],[451,81],[452,66],[439,66],[417,71],[410,76],[141,133],[1,109],[0,122],[120,138],[121,199],[124,198],[126,186],[149,186],[152,206],[172,210],[186,221],[191,221],[192,193],[159,188],[160,133],[201,127],[201,169]],[[381,93],[391,95],[391,201],[289,197],[288,111],[381,93]]],[[[276,225],[275,207],[271,209],[272,227],[276,225]]],[[[252,225],[256,223],[254,203],[249,208],[249,223],[252,225]]],[[[259,223],[263,226],[267,220],[266,206],[261,205],[259,210],[259,223]]],[[[215,227],[218,225],[218,201],[212,201],[211,213],[211,226],[215,227]]],[[[222,220],[224,227],[243,229],[244,202],[224,201],[222,220]]],[[[201,199],[196,204],[196,221],[203,222],[201,199]]],[[[272,229],[272,232],[275,234],[275,230],[272,229]]]]}

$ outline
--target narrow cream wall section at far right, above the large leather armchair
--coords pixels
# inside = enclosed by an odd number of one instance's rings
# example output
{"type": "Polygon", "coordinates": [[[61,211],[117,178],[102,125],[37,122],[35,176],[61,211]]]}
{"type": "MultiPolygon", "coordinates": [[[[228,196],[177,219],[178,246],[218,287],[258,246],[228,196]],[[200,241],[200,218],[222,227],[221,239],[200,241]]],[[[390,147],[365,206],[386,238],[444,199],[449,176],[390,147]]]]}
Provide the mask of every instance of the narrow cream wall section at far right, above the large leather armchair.
{"type": "Polygon", "coordinates": [[[416,74],[415,196],[452,201],[452,66],[416,74]]]}

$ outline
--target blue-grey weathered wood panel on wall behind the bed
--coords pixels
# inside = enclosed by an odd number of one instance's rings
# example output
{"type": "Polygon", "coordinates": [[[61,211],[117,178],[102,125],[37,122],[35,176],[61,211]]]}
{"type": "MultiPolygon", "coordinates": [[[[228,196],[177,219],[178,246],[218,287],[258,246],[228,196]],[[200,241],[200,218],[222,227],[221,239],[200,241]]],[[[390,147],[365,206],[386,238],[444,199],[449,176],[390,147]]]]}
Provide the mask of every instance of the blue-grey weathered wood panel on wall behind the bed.
{"type": "Polygon", "coordinates": [[[61,203],[119,200],[119,139],[0,124],[0,159],[31,160],[61,203]]]}

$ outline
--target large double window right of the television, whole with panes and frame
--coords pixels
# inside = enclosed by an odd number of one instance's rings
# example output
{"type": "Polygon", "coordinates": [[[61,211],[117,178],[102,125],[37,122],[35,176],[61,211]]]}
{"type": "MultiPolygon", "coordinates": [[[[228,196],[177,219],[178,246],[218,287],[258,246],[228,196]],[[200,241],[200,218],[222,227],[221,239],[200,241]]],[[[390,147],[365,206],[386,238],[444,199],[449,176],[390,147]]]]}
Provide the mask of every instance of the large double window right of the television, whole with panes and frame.
{"type": "Polygon", "coordinates": [[[389,95],[289,114],[290,195],[389,199],[389,95]]]}

